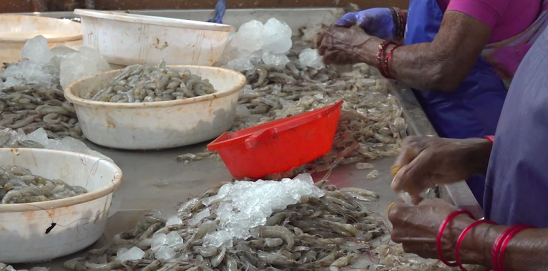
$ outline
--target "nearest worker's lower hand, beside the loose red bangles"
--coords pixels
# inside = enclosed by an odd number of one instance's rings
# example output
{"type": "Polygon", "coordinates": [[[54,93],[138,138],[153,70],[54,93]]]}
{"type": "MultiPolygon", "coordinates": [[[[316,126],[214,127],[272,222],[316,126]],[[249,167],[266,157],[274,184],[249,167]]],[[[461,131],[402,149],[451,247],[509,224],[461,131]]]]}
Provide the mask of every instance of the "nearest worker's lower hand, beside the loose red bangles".
{"type": "MultiPolygon", "coordinates": [[[[403,250],[423,258],[438,258],[436,240],[439,226],[454,207],[441,199],[425,199],[419,205],[397,203],[388,213],[392,223],[392,241],[402,243],[403,250]]],[[[442,251],[448,261],[455,258],[455,245],[460,233],[471,223],[466,215],[456,216],[443,232],[442,251]]],[[[461,256],[467,253],[461,250],[461,256]]]]}

